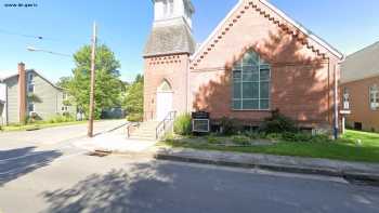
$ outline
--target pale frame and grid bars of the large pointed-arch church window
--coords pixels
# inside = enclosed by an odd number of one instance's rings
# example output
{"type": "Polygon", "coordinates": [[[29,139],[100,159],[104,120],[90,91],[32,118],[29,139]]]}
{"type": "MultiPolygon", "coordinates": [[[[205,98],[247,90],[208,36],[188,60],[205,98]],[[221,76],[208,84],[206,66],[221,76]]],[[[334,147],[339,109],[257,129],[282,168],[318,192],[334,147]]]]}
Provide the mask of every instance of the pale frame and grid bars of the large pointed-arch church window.
{"type": "MultiPolygon", "coordinates": [[[[240,75],[241,75],[241,80],[240,80],[240,96],[241,98],[234,98],[234,70],[236,70],[234,67],[232,69],[232,81],[233,81],[233,84],[232,84],[232,110],[234,111],[270,111],[271,110],[271,77],[272,77],[272,67],[269,63],[261,63],[261,56],[254,52],[258,56],[258,81],[244,81],[243,77],[244,77],[244,56],[243,58],[240,59],[240,63],[241,65],[241,68],[240,68],[240,75]],[[267,81],[261,81],[261,66],[269,66],[269,80],[267,81]],[[244,82],[256,82],[259,84],[258,86],[258,98],[244,98],[244,82]],[[261,82],[267,82],[269,83],[269,98],[261,98],[261,82]],[[258,106],[259,108],[258,109],[244,109],[244,101],[257,101],[258,99],[258,106]],[[261,101],[269,101],[269,107],[266,109],[261,109],[261,101]],[[235,101],[240,101],[241,102],[241,109],[236,109],[234,108],[234,102],[235,101]]],[[[245,53],[245,54],[248,54],[245,53]]]]}

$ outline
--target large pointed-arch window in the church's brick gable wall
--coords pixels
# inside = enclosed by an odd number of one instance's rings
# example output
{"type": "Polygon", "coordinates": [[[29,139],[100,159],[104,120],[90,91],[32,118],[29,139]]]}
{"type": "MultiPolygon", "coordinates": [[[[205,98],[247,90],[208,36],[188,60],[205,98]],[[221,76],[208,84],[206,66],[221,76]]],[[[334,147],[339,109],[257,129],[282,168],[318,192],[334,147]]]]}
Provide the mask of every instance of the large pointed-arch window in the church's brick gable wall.
{"type": "Polygon", "coordinates": [[[233,109],[270,109],[271,66],[256,52],[247,52],[233,68],[233,109]]]}

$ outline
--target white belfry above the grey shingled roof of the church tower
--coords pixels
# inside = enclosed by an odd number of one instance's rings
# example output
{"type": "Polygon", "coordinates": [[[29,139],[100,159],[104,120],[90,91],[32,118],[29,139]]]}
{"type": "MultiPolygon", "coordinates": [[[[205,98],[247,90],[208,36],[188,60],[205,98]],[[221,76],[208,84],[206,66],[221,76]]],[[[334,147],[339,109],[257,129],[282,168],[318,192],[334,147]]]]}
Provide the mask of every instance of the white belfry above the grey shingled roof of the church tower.
{"type": "Polygon", "coordinates": [[[153,3],[155,23],[181,18],[192,28],[195,9],[191,0],[153,0],[153,3]]]}

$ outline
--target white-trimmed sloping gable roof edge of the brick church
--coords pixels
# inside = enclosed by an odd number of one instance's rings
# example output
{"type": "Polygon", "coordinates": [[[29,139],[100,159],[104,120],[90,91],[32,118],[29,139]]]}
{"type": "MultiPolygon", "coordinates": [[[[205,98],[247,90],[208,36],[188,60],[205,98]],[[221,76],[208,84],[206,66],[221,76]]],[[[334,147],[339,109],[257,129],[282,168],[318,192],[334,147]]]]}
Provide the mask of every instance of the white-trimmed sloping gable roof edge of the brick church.
{"type": "MultiPolygon", "coordinates": [[[[279,21],[275,21],[275,18],[273,17],[280,17],[282,19],[285,21],[284,24],[289,24],[292,27],[295,27],[297,30],[299,30],[300,32],[302,32],[303,35],[305,35],[308,38],[310,38],[312,41],[314,41],[315,43],[317,43],[318,45],[325,48],[327,51],[329,51],[332,55],[335,55],[336,57],[342,59],[343,58],[343,54],[341,52],[339,52],[337,49],[335,49],[334,46],[331,46],[329,43],[327,43],[325,40],[321,39],[319,37],[317,37],[315,34],[313,34],[311,30],[306,29],[305,27],[303,27],[301,24],[299,24],[298,22],[296,22],[295,19],[290,18],[287,14],[285,14],[283,11],[280,11],[279,9],[277,9],[276,6],[274,6],[272,3],[270,3],[267,0],[239,0],[238,3],[230,11],[230,13],[225,16],[225,18],[217,26],[217,28],[212,31],[212,34],[207,38],[207,40],[201,43],[200,48],[194,53],[194,55],[192,56],[192,61],[196,62],[198,61],[199,56],[201,55],[201,52],[205,51],[206,46],[208,46],[210,44],[210,42],[212,41],[212,39],[214,39],[219,34],[221,34],[223,26],[225,26],[226,22],[232,19],[233,15],[235,15],[235,13],[237,12],[238,9],[240,9],[243,6],[244,3],[248,2],[249,4],[257,4],[257,2],[261,3],[262,5],[266,6],[269,10],[271,10],[271,14],[273,16],[267,16],[267,18],[272,18],[273,22],[278,22],[278,24],[280,24],[279,21]]],[[[263,8],[262,5],[257,4],[258,8],[263,8]]],[[[270,12],[269,12],[270,13],[270,12]]],[[[266,16],[265,16],[266,17],[266,16]]]]}

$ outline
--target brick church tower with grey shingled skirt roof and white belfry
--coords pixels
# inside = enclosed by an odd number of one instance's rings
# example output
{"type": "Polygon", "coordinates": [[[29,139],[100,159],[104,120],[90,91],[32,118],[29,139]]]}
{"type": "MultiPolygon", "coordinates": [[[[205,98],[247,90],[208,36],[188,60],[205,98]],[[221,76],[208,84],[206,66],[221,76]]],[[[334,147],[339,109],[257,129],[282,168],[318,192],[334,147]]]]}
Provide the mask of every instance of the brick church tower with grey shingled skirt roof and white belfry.
{"type": "Polygon", "coordinates": [[[195,13],[192,1],[152,0],[152,2],[154,22],[143,57],[144,111],[145,115],[153,115],[153,118],[144,120],[159,120],[170,110],[178,114],[187,111],[190,56],[196,49],[192,30],[192,16],[195,13]],[[160,94],[159,88],[165,82],[170,84],[171,91],[160,94]],[[162,96],[165,98],[160,98],[162,96]]]}

